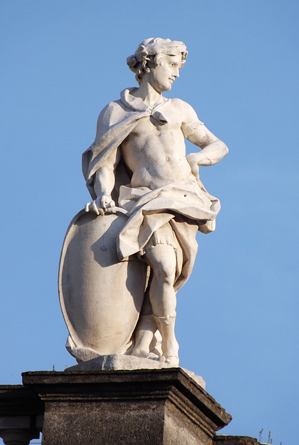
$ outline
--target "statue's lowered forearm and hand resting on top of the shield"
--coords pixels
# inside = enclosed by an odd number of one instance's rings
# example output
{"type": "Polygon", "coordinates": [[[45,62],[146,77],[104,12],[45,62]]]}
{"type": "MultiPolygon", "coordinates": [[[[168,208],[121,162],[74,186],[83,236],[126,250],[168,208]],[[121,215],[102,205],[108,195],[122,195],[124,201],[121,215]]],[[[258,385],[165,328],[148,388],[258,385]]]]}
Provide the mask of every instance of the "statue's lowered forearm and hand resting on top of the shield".
{"type": "Polygon", "coordinates": [[[111,198],[111,193],[115,184],[115,168],[120,162],[120,147],[116,149],[95,172],[94,191],[97,198],[88,202],[85,206],[86,211],[93,211],[97,215],[104,216],[104,213],[110,207],[115,207],[115,202],[111,198]]]}

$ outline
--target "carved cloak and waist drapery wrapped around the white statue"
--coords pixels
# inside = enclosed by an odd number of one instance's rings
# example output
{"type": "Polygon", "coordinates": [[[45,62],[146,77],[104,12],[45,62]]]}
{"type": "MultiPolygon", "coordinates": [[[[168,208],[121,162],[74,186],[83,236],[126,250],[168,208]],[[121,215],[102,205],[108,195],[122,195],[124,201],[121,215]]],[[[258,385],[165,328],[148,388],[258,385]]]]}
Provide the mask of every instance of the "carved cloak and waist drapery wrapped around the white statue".
{"type": "MultiPolygon", "coordinates": [[[[110,102],[100,113],[95,142],[83,153],[83,175],[93,200],[97,197],[93,188],[95,172],[118,149],[139,120],[152,116],[161,124],[168,122],[171,99],[165,99],[165,102],[150,108],[140,99],[131,96],[130,91],[131,89],[123,90],[120,100],[110,102]]],[[[191,128],[200,124],[200,120],[191,122],[191,128]]],[[[188,132],[186,126],[184,131],[188,132]]],[[[220,202],[193,175],[185,184],[174,182],[152,191],[147,187],[131,187],[125,166],[121,167],[122,171],[118,169],[115,172],[115,188],[119,207],[128,212],[129,219],[116,240],[118,257],[122,260],[136,253],[142,256],[145,245],[154,232],[170,225],[175,240],[173,247],[177,254],[177,290],[186,282],[193,268],[197,252],[196,231],[199,229],[203,233],[209,233],[215,229],[220,202]]]]}

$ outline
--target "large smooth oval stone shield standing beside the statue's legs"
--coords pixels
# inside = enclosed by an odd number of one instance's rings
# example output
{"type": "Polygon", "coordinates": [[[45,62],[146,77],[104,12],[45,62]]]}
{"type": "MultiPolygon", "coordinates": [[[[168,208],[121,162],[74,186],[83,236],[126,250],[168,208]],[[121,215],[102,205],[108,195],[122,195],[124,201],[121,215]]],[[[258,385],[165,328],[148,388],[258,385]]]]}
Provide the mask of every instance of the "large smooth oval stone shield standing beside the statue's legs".
{"type": "Polygon", "coordinates": [[[147,265],[134,256],[118,259],[115,238],[127,216],[112,212],[80,211],[63,242],[58,291],[70,332],[67,350],[77,362],[126,353],[143,305],[147,265]]]}

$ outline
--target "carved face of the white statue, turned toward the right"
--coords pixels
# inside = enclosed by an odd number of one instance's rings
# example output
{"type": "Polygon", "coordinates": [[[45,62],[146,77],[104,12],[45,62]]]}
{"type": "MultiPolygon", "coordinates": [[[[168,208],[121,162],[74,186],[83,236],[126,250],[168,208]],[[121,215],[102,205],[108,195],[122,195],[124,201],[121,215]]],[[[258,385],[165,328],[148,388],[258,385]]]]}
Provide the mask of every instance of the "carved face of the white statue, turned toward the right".
{"type": "Polygon", "coordinates": [[[150,70],[147,81],[157,92],[171,90],[172,83],[179,77],[181,54],[177,56],[163,56],[159,65],[150,70]]]}

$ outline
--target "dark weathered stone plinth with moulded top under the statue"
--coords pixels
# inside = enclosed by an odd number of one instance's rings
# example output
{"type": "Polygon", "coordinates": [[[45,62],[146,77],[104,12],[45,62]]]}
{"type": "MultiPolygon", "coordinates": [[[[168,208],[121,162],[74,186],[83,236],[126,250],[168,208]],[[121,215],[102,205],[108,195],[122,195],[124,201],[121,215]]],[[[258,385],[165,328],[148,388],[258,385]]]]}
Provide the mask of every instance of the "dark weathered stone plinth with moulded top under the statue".
{"type": "Polygon", "coordinates": [[[232,419],[179,368],[28,372],[45,402],[43,445],[212,445],[232,419]]]}

